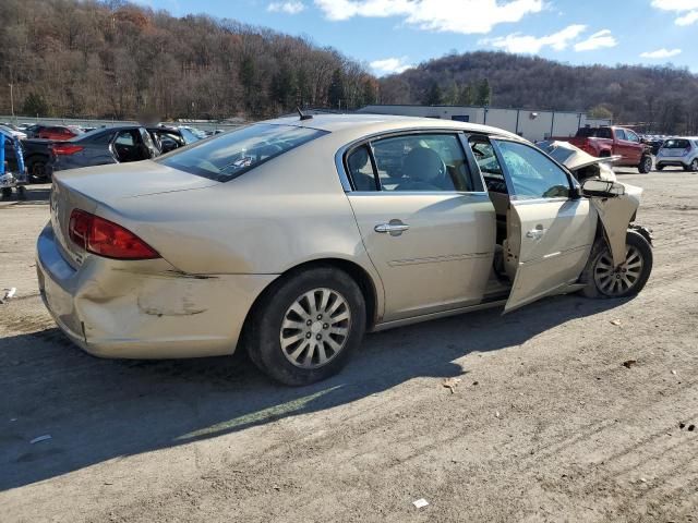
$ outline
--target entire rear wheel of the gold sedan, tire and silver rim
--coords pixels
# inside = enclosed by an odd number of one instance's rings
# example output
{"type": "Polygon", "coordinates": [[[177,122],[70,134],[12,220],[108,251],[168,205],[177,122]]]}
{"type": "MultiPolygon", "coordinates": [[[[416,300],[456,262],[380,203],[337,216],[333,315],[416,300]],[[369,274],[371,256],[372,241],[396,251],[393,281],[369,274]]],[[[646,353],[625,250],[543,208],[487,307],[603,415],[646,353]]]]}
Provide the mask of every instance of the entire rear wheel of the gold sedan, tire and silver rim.
{"type": "Polygon", "coordinates": [[[286,385],[309,385],[344,367],[365,330],[359,285],[341,270],[310,269],[275,283],[245,336],[251,360],[286,385]]]}

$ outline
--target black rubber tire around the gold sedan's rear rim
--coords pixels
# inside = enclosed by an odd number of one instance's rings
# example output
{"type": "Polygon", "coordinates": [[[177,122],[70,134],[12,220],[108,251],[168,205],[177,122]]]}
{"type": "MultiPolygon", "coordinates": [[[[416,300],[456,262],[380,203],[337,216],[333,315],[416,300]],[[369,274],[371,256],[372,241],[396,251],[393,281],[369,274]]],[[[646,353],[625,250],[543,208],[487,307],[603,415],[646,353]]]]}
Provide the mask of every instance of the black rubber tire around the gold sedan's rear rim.
{"type": "MultiPolygon", "coordinates": [[[[308,302],[303,303],[308,305],[308,302]]],[[[318,302],[315,305],[318,305],[318,302]]],[[[339,316],[336,313],[334,315],[339,316]]],[[[296,320],[294,323],[300,325],[302,321],[296,320]]],[[[351,354],[361,343],[365,323],[365,301],[357,282],[341,270],[332,267],[317,267],[284,277],[265,291],[260,302],[255,304],[249,325],[245,326],[244,343],[250,358],[273,379],[290,386],[310,385],[337,374],[347,364],[351,354]],[[289,318],[289,314],[293,314],[290,307],[298,304],[303,295],[312,291],[316,291],[313,296],[316,296],[318,301],[322,300],[323,291],[332,291],[335,294],[330,293],[329,303],[333,303],[333,296],[340,296],[344,299],[344,303],[338,311],[349,311],[349,319],[346,327],[342,327],[346,328],[347,335],[340,339],[341,348],[336,352],[332,352],[333,349],[325,340],[317,341],[317,344],[313,341],[316,336],[334,336],[329,330],[314,330],[315,328],[327,329],[324,327],[327,324],[323,324],[320,316],[317,316],[317,321],[313,320],[313,325],[309,325],[306,328],[282,329],[284,321],[289,318]],[[289,339],[296,336],[301,336],[301,338],[298,340],[298,345],[287,346],[285,352],[281,345],[284,336],[289,336],[289,339]],[[308,337],[308,343],[312,343],[312,350],[311,345],[302,349],[301,345],[306,342],[305,337],[308,337]],[[320,343],[323,344],[322,353],[327,356],[327,362],[324,364],[314,362],[321,351],[320,343]],[[299,360],[302,357],[303,362],[297,361],[294,364],[291,362],[292,354],[298,351],[301,352],[297,357],[299,360]],[[301,363],[310,365],[310,367],[300,366],[301,363]]],[[[334,338],[332,341],[339,344],[338,340],[338,338],[334,338]]]]}

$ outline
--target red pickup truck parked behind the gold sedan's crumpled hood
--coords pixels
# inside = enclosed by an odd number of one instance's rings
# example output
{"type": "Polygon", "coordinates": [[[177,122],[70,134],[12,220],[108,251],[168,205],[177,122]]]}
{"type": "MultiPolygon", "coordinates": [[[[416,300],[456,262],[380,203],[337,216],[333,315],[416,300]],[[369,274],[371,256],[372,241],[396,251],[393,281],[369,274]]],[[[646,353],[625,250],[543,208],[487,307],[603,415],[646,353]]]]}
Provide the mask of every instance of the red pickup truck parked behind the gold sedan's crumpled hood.
{"type": "Polygon", "coordinates": [[[637,167],[641,173],[652,170],[652,151],[640,137],[624,127],[581,127],[574,138],[553,138],[569,142],[591,156],[619,156],[616,166],[637,167]]]}

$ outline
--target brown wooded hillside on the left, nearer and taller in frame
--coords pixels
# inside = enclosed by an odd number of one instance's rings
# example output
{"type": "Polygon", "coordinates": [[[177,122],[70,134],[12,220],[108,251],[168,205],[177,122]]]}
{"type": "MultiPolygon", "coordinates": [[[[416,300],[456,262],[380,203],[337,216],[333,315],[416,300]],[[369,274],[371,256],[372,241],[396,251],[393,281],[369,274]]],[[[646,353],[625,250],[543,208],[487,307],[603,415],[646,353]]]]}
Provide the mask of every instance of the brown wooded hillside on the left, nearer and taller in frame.
{"type": "Polygon", "coordinates": [[[1,0],[0,113],[261,118],[359,107],[377,84],[330,48],[123,1],[1,0]]]}

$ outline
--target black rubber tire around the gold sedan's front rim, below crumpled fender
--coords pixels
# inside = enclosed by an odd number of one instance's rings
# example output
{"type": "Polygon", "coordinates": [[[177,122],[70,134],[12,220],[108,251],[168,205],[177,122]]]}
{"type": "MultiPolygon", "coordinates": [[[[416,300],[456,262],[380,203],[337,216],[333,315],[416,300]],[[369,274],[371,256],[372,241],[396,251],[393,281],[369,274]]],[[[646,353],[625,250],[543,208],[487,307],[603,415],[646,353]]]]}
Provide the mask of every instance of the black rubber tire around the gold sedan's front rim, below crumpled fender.
{"type": "MultiPolygon", "coordinates": [[[[607,260],[611,258],[611,250],[606,244],[605,240],[600,238],[593,245],[591,250],[591,254],[589,255],[589,260],[587,262],[587,266],[585,267],[583,272],[579,279],[580,283],[585,283],[586,287],[581,290],[581,293],[587,297],[600,297],[600,299],[609,299],[609,297],[627,297],[633,296],[640,292],[647,280],[652,272],[652,246],[647,241],[647,239],[637,231],[628,231],[625,238],[625,244],[628,250],[630,250],[630,259],[633,264],[635,264],[637,258],[633,258],[633,254],[637,254],[641,258],[641,266],[639,269],[639,275],[633,280],[631,287],[627,289],[623,289],[623,283],[618,282],[618,290],[615,290],[614,287],[609,289],[604,289],[602,284],[602,278],[606,269],[604,269],[604,265],[607,265],[607,260]],[[604,264],[605,262],[605,264],[604,264]],[[603,271],[603,272],[601,272],[603,271]],[[601,280],[601,281],[600,281],[601,280]]],[[[616,275],[616,278],[623,279],[623,273],[626,275],[627,278],[630,277],[627,272],[622,272],[619,276],[613,271],[613,275],[616,275]]],[[[609,276],[611,278],[611,276],[609,276]]],[[[626,280],[627,281],[627,280],[626,280]]]]}

